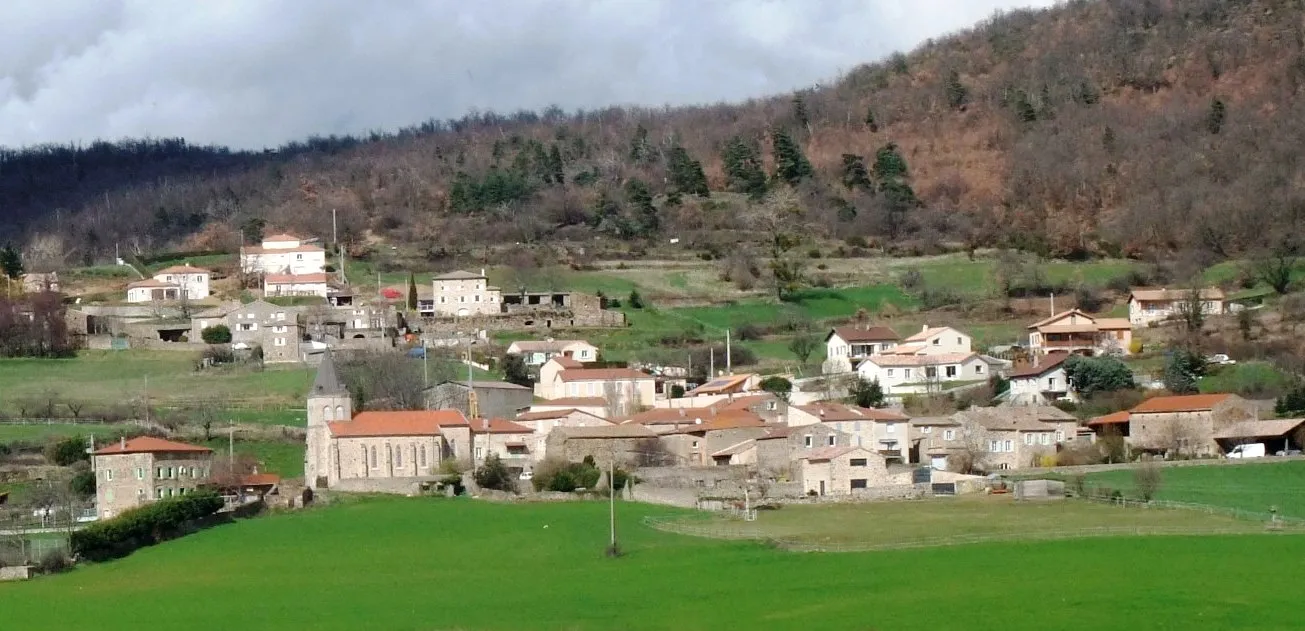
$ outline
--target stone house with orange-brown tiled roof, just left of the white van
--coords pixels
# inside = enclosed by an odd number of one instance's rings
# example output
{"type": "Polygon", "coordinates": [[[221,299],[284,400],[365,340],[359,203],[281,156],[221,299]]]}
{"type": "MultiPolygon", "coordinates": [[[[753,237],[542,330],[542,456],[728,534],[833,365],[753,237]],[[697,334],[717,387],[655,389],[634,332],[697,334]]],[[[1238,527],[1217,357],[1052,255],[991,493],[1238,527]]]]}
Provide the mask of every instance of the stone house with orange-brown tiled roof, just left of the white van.
{"type": "Polygon", "coordinates": [[[1258,417],[1254,403],[1233,394],[1155,396],[1129,411],[1128,435],[1142,451],[1216,455],[1220,432],[1258,417]]]}

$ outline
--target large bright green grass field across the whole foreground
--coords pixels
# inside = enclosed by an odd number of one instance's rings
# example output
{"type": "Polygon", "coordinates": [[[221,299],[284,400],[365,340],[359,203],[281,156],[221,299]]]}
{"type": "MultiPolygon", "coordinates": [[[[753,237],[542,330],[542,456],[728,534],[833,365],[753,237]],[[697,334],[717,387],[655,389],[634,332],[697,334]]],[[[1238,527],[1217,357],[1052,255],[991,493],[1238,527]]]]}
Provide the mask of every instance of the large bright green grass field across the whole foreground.
{"type": "Polygon", "coordinates": [[[1298,536],[799,554],[656,532],[639,518],[677,512],[617,508],[619,559],[602,553],[602,502],[364,499],[0,584],[0,601],[7,627],[107,631],[159,621],[350,631],[1300,628],[1305,566],[1283,563],[1305,554],[1298,536]]]}

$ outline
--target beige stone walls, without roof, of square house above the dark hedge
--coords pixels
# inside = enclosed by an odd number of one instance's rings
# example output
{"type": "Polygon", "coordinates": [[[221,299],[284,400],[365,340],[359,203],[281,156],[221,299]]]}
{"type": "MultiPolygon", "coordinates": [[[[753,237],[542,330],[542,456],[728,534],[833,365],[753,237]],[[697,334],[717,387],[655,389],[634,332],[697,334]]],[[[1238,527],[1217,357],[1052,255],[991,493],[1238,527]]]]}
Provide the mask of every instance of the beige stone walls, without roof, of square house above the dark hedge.
{"type": "Polygon", "coordinates": [[[110,519],[159,498],[191,493],[209,478],[211,460],[211,452],[95,456],[95,512],[110,519]]]}

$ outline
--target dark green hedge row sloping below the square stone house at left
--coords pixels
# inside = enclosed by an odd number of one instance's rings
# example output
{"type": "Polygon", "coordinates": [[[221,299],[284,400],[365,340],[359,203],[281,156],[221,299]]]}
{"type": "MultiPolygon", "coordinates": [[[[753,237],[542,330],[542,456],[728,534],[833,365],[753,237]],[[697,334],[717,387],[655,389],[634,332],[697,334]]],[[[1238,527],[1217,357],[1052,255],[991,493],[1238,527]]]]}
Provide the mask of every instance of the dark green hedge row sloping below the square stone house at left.
{"type": "Polygon", "coordinates": [[[69,545],[77,558],[86,561],[125,557],[138,548],[184,535],[194,520],[222,510],[222,497],[211,490],[159,499],[72,533],[69,545]]]}

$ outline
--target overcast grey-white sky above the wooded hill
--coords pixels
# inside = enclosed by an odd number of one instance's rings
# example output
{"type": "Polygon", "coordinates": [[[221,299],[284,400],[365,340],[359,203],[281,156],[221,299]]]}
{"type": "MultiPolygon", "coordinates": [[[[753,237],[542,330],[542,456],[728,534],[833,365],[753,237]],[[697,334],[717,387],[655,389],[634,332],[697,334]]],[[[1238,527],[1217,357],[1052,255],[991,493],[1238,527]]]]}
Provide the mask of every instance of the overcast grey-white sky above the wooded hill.
{"type": "Polygon", "coordinates": [[[0,146],[737,100],[1052,0],[0,0],[0,146]]]}

